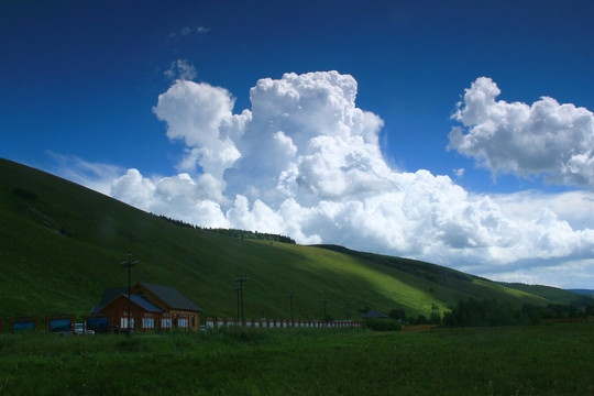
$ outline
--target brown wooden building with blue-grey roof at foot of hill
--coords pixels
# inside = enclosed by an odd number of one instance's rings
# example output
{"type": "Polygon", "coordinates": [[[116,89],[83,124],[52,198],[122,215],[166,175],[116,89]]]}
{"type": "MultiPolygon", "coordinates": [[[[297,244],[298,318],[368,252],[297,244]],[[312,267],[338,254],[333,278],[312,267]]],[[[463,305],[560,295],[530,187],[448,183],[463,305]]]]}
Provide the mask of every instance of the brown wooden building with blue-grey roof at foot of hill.
{"type": "Polygon", "coordinates": [[[153,330],[198,330],[202,309],[173,287],[139,282],[130,288],[103,290],[101,302],[91,311],[94,317],[106,317],[110,329],[135,332],[153,330]]]}

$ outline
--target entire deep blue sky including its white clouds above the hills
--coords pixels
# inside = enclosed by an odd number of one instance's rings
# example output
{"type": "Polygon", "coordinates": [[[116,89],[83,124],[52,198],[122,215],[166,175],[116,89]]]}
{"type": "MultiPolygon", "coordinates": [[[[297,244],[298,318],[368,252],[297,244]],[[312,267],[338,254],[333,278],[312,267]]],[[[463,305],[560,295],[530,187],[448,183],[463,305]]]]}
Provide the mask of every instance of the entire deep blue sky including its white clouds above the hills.
{"type": "Polygon", "coordinates": [[[593,11],[4,2],[0,156],[205,227],[594,288],[593,11]]]}

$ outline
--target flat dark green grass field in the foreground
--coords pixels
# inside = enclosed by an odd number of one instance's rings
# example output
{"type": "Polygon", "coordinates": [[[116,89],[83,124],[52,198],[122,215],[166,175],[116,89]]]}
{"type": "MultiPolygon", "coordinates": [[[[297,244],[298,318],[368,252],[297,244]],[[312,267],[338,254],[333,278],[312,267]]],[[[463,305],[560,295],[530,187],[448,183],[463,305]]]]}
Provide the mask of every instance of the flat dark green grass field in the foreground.
{"type": "Polygon", "coordinates": [[[2,395],[592,395],[594,324],[0,338],[2,395]]]}

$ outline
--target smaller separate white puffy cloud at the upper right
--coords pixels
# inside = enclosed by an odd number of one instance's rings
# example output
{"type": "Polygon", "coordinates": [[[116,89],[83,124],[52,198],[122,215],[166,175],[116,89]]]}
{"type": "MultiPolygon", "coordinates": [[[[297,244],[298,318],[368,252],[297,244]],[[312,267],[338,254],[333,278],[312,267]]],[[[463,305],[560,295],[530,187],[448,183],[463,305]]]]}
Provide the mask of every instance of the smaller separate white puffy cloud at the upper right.
{"type": "Polygon", "coordinates": [[[594,114],[571,103],[542,97],[532,105],[496,100],[501,90],[490,78],[468,88],[452,118],[448,148],[474,157],[497,173],[544,175],[564,185],[594,189],[594,114]]]}

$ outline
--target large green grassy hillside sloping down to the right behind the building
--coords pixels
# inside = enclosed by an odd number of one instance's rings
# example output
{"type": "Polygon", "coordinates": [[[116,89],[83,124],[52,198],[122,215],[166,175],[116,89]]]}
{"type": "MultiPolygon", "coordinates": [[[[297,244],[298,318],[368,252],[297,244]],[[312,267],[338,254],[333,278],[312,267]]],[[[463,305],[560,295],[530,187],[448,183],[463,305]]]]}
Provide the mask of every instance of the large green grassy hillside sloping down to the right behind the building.
{"type": "Polygon", "coordinates": [[[82,315],[103,288],[127,284],[120,264],[140,260],[132,283],[173,286],[206,316],[237,312],[234,277],[249,276],[245,317],[337,319],[369,306],[408,316],[443,311],[460,299],[557,302],[417,261],[334,246],[241,240],[180,227],[46,173],[0,160],[0,317],[82,315]]]}

